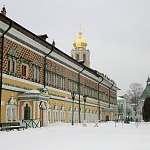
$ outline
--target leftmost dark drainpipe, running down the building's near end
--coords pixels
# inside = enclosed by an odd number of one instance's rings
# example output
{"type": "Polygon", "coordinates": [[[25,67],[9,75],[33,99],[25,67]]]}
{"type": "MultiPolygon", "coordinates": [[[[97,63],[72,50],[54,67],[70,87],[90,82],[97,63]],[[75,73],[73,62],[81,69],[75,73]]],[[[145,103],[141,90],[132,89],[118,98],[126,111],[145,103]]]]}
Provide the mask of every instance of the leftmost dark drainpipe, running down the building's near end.
{"type": "Polygon", "coordinates": [[[0,71],[0,123],[1,123],[1,101],[2,101],[2,76],[3,76],[3,54],[4,54],[4,36],[10,30],[13,21],[10,21],[8,29],[2,34],[2,50],[1,50],[1,71],[0,71]]]}

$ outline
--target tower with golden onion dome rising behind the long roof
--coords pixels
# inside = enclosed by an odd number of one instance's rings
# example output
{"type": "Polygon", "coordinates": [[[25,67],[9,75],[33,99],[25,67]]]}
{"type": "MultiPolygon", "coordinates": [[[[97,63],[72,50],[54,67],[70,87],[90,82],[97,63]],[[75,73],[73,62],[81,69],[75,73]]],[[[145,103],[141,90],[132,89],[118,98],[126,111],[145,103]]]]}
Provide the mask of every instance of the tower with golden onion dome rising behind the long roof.
{"type": "Polygon", "coordinates": [[[78,38],[74,41],[73,46],[74,49],[71,51],[71,57],[77,61],[83,61],[86,67],[90,67],[90,51],[86,49],[87,42],[82,38],[81,26],[78,38]]]}

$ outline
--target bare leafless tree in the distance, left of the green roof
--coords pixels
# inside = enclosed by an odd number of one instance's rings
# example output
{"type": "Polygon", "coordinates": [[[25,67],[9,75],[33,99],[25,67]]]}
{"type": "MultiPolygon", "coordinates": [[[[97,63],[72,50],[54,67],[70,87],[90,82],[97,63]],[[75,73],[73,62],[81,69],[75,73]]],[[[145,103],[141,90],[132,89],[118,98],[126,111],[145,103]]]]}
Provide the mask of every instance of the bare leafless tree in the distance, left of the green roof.
{"type": "Polygon", "coordinates": [[[140,96],[143,92],[142,84],[132,83],[129,86],[129,90],[124,95],[124,97],[129,100],[132,104],[137,105],[140,99],[140,96]]]}

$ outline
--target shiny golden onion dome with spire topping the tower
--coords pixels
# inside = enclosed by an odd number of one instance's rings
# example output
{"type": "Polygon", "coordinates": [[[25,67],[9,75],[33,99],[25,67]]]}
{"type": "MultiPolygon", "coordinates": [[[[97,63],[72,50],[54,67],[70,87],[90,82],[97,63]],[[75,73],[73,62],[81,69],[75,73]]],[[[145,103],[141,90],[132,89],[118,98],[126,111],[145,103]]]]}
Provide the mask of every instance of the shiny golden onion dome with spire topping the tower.
{"type": "Polygon", "coordinates": [[[85,41],[85,39],[82,38],[82,30],[80,27],[80,31],[79,31],[79,36],[78,38],[74,41],[73,46],[75,47],[75,49],[79,49],[79,50],[83,50],[86,48],[87,43],[85,41]]]}

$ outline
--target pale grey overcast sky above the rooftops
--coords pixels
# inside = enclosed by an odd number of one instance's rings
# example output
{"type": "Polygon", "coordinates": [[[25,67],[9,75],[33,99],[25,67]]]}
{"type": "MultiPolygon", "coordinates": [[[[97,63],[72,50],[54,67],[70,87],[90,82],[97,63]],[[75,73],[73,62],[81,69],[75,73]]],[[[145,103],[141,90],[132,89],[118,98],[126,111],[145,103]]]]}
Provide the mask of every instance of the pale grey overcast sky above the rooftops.
{"type": "Polygon", "coordinates": [[[150,0],[0,0],[7,17],[70,55],[82,24],[91,68],[123,95],[150,75],[150,0]]]}

